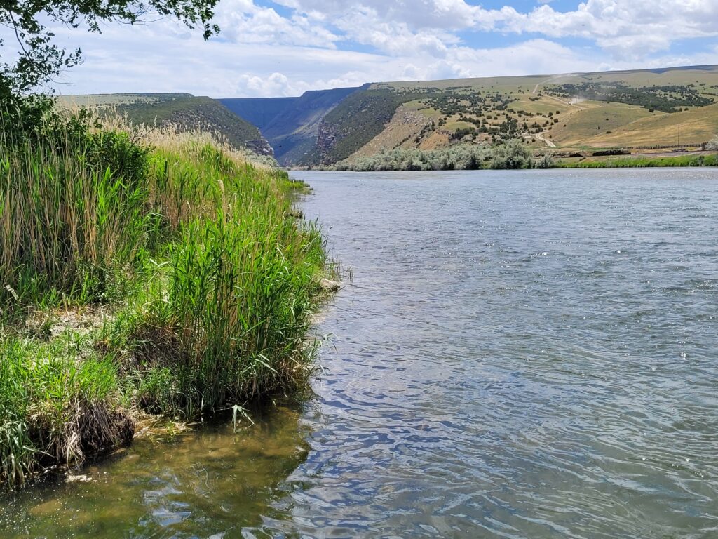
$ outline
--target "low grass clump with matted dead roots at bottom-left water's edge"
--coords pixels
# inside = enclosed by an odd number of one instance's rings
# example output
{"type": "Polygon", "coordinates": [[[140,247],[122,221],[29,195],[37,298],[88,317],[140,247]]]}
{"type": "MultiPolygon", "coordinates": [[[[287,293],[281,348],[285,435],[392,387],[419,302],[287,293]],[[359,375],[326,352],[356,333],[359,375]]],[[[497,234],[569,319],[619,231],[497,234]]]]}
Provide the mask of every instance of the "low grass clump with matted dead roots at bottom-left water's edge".
{"type": "Polygon", "coordinates": [[[116,364],[81,357],[86,338],[0,342],[0,476],[9,484],[38,466],[81,462],[131,439],[116,364]]]}

